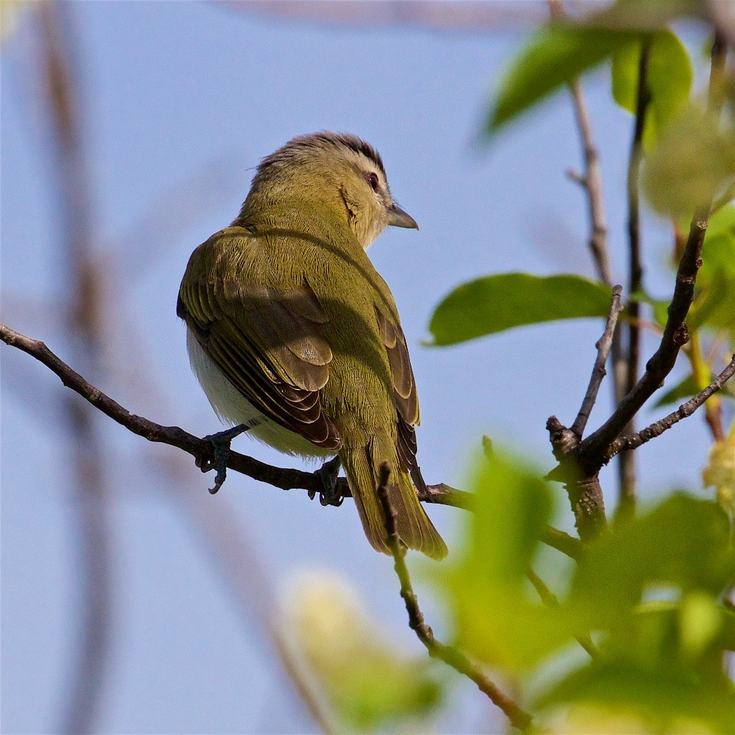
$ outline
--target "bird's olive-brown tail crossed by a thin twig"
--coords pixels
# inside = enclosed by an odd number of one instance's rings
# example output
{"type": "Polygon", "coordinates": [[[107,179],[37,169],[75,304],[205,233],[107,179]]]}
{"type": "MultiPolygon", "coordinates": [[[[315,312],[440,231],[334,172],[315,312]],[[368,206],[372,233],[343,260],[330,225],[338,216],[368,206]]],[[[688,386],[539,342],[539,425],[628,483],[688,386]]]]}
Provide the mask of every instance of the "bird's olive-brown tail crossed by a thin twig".
{"type": "Polygon", "coordinates": [[[447,555],[447,545],[426,515],[411,476],[399,466],[398,454],[391,448],[392,442],[388,437],[373,437],[365,447],[345,447],[340,452],[365,536],[376,551],[390,554],[385,517],[377,492],[380,466],[387,462],[391,470],[388,499],[395,510],[398,536],[409,548],[432,559],[443,559],[447,555]]]}

